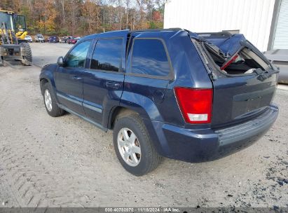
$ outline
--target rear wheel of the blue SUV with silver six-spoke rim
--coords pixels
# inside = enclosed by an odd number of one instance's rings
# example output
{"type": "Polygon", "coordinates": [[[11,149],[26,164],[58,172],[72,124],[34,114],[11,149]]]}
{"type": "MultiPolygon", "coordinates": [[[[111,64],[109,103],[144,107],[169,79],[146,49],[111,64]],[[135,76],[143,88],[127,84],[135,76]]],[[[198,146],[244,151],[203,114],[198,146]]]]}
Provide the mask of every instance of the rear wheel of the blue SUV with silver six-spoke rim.
{"type": "Polygon", "coordinates": [[[161,157],[156,151],[153,142],[151,142],[142,119],[137,114],[131,114],[116,120],[114,125],[113,140],[116,156],[121,165],[125,168],[125,170],[131,174],[134,174],[135,176],[142,176],[151,172],[160,163],[161,157]],[[128,133],[128,136],[130,136],[130,142],[134,140],[132,139],[132,134],[135,134],[136,139],[134,142],[132,142],[132,145],[121,146],[128,142],[128,140],[124,142],[125,133],[123,133],[123,131],[127,131],[126,133],[128,133]],[[133,150],[137,150],[135,154],[133,153],[133,150]],[[131,151],[133,154],[128,156],[128,151],[131,151]],[[135,163],[135,160],[133,161],[132,158],[136,158],[137,162],[135,163]]]}

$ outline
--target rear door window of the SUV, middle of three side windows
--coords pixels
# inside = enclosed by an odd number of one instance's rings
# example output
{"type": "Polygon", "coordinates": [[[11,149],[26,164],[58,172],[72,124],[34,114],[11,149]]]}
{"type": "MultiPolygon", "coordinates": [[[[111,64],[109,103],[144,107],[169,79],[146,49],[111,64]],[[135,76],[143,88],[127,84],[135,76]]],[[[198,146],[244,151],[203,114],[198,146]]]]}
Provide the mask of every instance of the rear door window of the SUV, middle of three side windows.
{"type": "Polygon", "coordinates": [[[100,69],[106,71],[118,71],[121,62],[122,39],[98,40],[90,69],[100,69]]]}

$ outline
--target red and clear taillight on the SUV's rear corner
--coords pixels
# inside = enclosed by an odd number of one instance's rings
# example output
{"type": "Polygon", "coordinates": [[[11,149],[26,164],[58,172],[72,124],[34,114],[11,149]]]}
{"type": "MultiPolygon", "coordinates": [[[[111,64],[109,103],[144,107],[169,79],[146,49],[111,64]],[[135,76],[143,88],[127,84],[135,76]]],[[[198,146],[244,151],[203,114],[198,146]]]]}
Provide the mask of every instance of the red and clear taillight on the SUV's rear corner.
{"type": "Polygon", "coordinates": [[[174,88],[182,115],[187,123],[210,123],[212,89],[174,88]]]}

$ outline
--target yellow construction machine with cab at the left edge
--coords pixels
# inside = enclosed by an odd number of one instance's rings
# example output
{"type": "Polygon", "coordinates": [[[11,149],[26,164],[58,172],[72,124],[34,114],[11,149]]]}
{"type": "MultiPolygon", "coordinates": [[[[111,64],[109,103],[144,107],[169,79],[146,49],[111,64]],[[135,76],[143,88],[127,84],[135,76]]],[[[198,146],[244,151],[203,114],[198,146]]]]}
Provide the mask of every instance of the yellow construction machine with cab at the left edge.
{"type": "Polygon", "coordinates": [[[32,65],[32,51],[25,40],[26,35],[25,16],[0,9],[0,64],[9,59],[32,65]]]}

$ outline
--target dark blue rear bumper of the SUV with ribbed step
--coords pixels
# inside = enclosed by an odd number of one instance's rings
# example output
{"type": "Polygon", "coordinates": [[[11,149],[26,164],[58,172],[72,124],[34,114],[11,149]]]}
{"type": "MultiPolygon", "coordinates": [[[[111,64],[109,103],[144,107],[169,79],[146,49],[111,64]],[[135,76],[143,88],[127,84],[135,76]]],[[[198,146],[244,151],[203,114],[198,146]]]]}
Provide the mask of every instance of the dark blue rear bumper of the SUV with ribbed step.
{"type": "Polygon", "coordinates": [[[188,162],[221,158],[256,142],[276,121],[278,112],[277,106],[270,105],[253,120],[221,130],[189,130],[152,121],[156,148],[167,158],[188,162]]]}

